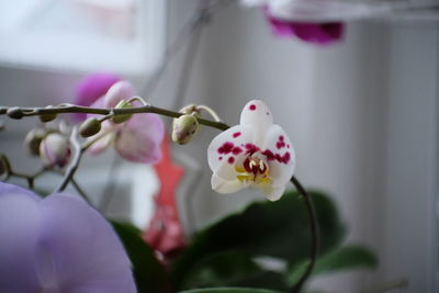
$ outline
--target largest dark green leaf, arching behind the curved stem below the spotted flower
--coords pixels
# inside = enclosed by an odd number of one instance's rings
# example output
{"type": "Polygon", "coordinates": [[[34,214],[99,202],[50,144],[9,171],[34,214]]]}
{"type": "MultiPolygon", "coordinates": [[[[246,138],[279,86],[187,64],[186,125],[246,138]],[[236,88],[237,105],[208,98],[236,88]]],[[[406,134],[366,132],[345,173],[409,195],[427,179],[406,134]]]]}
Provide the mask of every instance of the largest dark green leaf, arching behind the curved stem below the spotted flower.
{"type": "MultiPolygon", "coordinates": [[[[345,235],[331,200],[311,192],[320,227],[320,251],[338,245],[345,235]]],[[[288,192],[278,202],[259,202],[240,213],[201,230],[172,267],[172,283],[177,289],[203,259],[219,252],[236,251],[249,257],[270,256],[302,261],[309,255],[309,219],[305,203],[297,192],[288,192]]]]}

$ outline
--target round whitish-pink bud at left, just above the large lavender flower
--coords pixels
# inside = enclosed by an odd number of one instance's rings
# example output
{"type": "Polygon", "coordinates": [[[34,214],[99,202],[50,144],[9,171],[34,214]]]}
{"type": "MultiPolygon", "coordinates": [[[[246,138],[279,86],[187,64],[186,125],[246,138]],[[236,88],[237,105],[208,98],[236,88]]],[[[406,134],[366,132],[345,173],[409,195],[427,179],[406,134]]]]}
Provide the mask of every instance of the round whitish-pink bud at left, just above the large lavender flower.
{"type": "Polygon", "coordinates": [[[40,157],[50,166],[63,168],[70,159],[70,143],[68,137],[59,133],[48,134],[40,144],[40,157]]]}

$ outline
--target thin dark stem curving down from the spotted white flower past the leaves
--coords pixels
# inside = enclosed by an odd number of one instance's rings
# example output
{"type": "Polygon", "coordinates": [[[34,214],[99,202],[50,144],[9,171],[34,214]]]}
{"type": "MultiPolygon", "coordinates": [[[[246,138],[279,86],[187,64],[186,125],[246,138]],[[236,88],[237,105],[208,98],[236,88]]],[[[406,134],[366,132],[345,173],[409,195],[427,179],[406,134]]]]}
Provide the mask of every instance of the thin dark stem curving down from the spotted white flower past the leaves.
{"type": "Polygon", "coordinates": [[[306,268],[306,271],[301,277],[301,279],[290,290],[291,293],[299,293],[299,292],[301,292],[306,280],[309,278],[311,273],[313,272],[315,262],[317,260],[318,249],[320,246],[320,234],[319,234],[318,221],[317,221],[317,215],[316,215],[316,211],[314,207],[313,198],[294,176],[291,178],[291,182],[294,184],[294,187],[297,189],[297,191],[303,195],[303,199],[304,199],[305,205],[306,205],[306,211],[308,212],[309,226],[311,226],[311,243],[312,243],[312,245],[311,245],[309,263],[306,268]]]}

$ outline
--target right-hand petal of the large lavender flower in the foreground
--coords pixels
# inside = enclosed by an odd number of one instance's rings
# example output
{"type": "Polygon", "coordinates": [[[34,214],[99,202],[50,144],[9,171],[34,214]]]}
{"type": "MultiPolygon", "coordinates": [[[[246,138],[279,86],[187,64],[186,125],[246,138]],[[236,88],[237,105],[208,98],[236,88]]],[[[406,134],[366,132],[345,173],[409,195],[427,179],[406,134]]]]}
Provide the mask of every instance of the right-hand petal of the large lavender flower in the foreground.
{"type": "Polygon", "coordinates": [[[41,243],[50,250],[59,292],[135,292],[123,246],[97,211],[63,194],[46,198],[41,211],[41,243]]]}

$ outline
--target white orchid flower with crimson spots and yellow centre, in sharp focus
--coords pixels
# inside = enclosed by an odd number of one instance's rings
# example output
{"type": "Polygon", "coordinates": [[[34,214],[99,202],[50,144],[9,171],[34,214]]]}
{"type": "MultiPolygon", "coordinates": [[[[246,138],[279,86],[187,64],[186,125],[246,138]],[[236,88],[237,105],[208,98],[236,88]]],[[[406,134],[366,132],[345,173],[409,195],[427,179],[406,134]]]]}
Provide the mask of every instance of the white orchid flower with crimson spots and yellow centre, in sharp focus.
{"type": "Polygon", "coordinates": [[[212,189],[233,193],[258,188],[270,201],[279,200],[295,169],[295,151],[286,133],[273,124],[268,106],[250,101],[239,125],[217,135],[207,149],[212,189]]]}

